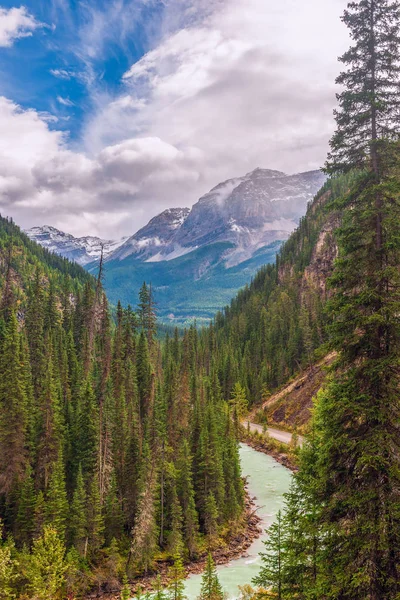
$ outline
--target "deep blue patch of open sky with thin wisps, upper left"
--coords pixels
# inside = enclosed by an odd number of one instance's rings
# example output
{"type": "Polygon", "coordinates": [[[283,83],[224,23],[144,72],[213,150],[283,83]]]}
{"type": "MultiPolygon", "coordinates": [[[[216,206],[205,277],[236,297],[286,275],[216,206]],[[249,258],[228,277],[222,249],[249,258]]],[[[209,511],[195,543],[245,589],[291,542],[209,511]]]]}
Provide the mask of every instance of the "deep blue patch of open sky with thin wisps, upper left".
{"type": "Polygon", "coordinates": [[[76,139],[93,96],[117,95],[124,72],[155,43],[163,4],[28,0],[23,6],[41,25],[0,53],[0,93],[57,116],[57,127],[76,139]]]}

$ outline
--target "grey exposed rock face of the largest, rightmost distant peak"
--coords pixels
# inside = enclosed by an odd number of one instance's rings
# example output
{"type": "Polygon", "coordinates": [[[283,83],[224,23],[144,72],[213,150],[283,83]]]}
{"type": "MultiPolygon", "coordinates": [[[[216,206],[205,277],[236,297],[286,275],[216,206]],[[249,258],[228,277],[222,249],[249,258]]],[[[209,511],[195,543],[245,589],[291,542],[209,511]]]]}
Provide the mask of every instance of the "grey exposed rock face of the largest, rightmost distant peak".
{"type": "Polygon", "coordinates": [[[193,206],[173,244],[193,248],[211,241],[232,242],[239,249],[236,261],[241,262],[258,248],[287,239],[324,181],[320,171],[288,176],[256,169],[221,183],[193,206]]]}

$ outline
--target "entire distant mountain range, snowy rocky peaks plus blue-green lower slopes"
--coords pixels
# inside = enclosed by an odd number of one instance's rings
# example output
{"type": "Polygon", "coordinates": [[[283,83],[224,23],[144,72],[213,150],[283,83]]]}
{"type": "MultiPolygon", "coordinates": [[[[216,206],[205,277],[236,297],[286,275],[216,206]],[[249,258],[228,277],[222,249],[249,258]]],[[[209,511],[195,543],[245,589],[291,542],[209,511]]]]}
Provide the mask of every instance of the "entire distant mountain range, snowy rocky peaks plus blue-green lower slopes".
{"type": "Polygon", "coordinates": [[[321,171],[286,175],[256,169],[217,185],[189,208],[171,208],[120,241],[74,238],[52,227],[27,231],[49,250],[95,271],[101,244],[112,302],[136,303],[151,283],[164,321],[212,317],[296,228],[324,184],[321,171]]]}

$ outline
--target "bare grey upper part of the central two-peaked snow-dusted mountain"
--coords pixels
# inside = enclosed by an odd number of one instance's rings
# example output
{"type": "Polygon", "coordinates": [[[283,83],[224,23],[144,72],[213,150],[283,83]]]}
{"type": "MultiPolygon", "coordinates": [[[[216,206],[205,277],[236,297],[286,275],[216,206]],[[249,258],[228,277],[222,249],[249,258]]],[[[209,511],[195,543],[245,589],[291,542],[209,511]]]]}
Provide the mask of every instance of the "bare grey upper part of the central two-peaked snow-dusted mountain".
{"type": "Polygon", "coordinates": [[[256,169],[217,185],[191,210],[170,209],[154,217],[108,260],[168,261],[229,242],[224,259],[228,266],[240,264],[260,248],[286,240],[325,179],[321,171],[286,175],[256,169]]]}

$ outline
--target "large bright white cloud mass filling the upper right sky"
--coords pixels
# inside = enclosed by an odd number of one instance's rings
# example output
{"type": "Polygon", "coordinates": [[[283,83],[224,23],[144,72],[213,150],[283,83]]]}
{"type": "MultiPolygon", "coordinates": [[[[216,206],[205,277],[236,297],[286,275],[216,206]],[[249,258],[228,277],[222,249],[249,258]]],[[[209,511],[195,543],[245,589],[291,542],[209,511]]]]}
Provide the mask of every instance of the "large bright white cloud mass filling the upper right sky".
{"type": "Polygon", "coordinates": [[[319,168],[334,127],[337,56],[348,45],[345,5],[167,1],[163,41],[127,70],[121,97],[88,121],[86,150],[130,137],[158,137],[183,154],[195,148],[197,182],[178,197],[166,186],[160,209],[191,204],[257,166],[319,168]]]}

